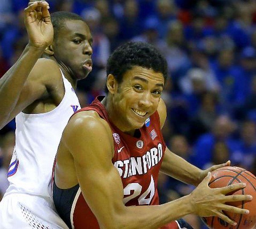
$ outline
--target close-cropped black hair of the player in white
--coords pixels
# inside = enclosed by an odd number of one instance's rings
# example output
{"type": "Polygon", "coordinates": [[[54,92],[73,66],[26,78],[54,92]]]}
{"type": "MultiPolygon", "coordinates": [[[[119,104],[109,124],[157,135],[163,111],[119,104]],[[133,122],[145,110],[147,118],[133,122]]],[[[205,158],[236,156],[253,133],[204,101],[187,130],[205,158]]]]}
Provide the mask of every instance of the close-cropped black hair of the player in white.
{"type": "Polygon", "coordinates": [[[81,20],[85,22],[84,18],[80,17],[78,14],[66,11],[52,13],[51,20],[54,30],[54,39],[57,37],[59,30],[65,26],[67,20],[81,20]]]}

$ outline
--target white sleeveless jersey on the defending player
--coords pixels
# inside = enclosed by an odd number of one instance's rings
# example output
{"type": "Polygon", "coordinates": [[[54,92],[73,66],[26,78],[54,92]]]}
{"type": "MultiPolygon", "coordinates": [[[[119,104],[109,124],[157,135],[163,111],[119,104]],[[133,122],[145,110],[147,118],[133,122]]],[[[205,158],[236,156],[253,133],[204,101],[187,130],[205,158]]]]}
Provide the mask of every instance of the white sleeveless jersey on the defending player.
{"type": "Polygon", "coordinates": [[[61,72],[65,94],[54,110],[16,116],[15,149],[10,162],[6,195],[26,193],[49,197],[48,185],[62,132],[70,116],[80,109],[70,82],[61,72]]]}

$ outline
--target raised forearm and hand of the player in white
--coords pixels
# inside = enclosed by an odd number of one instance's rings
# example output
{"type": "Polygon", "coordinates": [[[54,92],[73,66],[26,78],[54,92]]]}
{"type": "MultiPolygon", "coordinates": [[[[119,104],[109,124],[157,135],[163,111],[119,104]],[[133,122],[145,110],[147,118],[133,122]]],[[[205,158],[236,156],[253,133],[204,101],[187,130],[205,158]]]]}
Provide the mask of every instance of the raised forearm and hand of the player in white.
{"type": "MultiPolygon", "coordinates": [[[[29,44],[18,61],[0,79],[0,128],[10,121],[10,114],[17,104],[26,79],[44,49],[52,43],[53,27],[48,8],[47,2],[37,1],[24,10],[29,44]]],[[[32,100],[38,99],[44,93],[43,90],[43,88],[34,90],[35,94],[31,95],[32,100]]],[[[23,106],[20,106],[21,110],[31,103],[31,101],[21,102],[23,103],[23,106]]]]}

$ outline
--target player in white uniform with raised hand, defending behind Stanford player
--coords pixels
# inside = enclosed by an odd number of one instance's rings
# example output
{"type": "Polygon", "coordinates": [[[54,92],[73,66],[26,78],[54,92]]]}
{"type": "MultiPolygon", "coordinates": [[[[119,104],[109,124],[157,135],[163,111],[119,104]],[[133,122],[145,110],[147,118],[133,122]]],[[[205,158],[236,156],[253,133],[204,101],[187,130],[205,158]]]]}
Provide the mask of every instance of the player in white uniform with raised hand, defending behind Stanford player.
{"type": "Polygon", "coordinates": [[[67,228],[47,186],[61,134],[80,108],[76,82],[92,70],[92,36],[78,15],[57,12],[51,22],[47,8],[37,1],[25,9],[29,43],[0,79],[0,127],[15,116],[17,126],[1,229],[67,228]]]}

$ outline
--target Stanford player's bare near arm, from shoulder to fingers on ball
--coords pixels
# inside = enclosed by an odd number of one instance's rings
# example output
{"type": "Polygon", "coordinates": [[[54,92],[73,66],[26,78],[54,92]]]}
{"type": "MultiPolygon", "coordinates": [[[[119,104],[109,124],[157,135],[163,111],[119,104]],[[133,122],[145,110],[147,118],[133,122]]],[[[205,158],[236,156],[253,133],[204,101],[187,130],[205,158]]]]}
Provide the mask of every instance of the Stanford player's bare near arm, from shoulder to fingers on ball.
{"type": "MultiPolygon", "coordinates": [[[[157,229],[186,214],[223,215],[221,209],[244,212],[243,209],[224,205],[234,197],[226,197],[232,187],[211,189],[210,176],[195,191],[175,201],[159,206],[125,206],[119,172],[112,164],[113,139],[107,122],[99,117],[80,112],[74,115],[62,136],[62,143],[73,156],[82,194],[102,229],[157,229]],[[207,210],[206,210],[207,209],[207,210]]],[[[236,196],[236,200],[248,199],[236,196]]]]}

